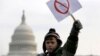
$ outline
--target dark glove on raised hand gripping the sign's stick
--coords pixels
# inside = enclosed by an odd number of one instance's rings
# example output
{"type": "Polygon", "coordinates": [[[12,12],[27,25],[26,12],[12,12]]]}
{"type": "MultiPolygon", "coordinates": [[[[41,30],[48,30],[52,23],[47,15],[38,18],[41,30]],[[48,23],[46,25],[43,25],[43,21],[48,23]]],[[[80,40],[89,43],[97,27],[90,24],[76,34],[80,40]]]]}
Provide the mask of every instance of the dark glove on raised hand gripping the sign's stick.
{"type": "Polygon", "coordinates": [[[82,24],[79,20],[76,20],[74,23],[73,23],[73,27],[72,27],[72,30],[71,30],[71,33],[70,35],[73,35],[73,36],[77,36],[80,29],[82,29],[82,24]]]}

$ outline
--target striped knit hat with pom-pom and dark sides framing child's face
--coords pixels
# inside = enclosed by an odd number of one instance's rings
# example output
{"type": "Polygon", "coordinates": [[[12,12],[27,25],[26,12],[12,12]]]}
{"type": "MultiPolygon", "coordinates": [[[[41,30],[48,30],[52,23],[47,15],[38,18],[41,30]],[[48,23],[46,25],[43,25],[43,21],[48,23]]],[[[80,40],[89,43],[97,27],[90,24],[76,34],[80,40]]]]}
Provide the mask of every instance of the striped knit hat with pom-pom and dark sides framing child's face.
{"type": "Polygon", "coordinates": [[[57,39],[57,43],[58,46],[60,47],[62,44],[62,41],[60,40],[60,36],[58,33],[56,33],[56,30],[54,28],[50,28],[49,32],[46,34],[45,38],[44,38],[44,42],[43,42],[43,51],[44,53],[46,52],[46,46],[45,46],[45,41],[47,40],[47,38],[49,37],[55,37],[57,39]]]}

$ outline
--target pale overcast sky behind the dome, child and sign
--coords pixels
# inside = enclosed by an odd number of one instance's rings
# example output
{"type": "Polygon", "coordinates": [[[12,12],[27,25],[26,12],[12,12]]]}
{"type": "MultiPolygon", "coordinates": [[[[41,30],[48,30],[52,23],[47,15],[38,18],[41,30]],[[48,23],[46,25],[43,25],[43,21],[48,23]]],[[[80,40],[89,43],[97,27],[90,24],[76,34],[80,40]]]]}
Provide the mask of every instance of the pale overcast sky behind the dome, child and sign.
{"type": "MultiPolygon", "coordinates": [[[[42,42],[49,28],[55,28],[63,43],[67,40],[73,20],[69,16],[57,22],[47,7],[49,0],[0,0],[0,55],[9,51],[11,36],[21,23],[25,10],[26,23],[32,27],[37,52],[42,52],[42,42]]],[[[100,0],[79,0],[82,8],[73,15],[83,24],[76,54],[100,55],[100,0]]]]}

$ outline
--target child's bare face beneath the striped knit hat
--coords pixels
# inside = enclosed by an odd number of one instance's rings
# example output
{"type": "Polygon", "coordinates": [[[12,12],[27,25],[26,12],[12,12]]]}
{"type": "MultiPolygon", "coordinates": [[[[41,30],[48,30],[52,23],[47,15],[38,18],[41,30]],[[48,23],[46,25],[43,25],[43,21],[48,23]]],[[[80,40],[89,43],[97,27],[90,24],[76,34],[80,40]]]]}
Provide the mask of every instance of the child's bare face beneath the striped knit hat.
{"type": "Polygon", "coordinates": [[[57,47],[57,39],[55,37],[49,37],[45,42],[46,49],[49,53],[53,52],[57,47]]]}

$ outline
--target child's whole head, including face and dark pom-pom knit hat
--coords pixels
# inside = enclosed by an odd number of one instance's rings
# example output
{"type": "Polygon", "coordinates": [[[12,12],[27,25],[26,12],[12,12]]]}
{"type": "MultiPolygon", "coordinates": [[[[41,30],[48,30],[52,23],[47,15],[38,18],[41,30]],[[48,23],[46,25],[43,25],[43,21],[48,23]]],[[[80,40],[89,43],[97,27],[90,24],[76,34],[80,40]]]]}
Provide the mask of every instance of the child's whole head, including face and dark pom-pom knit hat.
{"type": "Polygon", "coordinates": [[[61,44],[60,36],[56,33],[54,28],[51,28],[44,38],[43,51],[44,53],[46,51],[52,53],[59,48],[61,44]]]}

